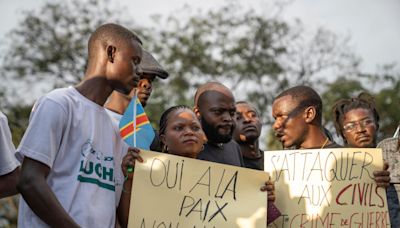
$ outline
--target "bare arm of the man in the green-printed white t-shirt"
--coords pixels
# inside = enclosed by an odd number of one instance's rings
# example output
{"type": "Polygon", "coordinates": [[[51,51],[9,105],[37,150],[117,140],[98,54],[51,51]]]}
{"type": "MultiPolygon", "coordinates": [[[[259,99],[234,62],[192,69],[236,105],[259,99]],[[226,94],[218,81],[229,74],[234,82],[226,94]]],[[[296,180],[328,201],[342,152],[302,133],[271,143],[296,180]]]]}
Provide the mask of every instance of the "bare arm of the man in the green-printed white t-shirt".
{"type": "Polygon", "coordinates": [[[79,227],[57,200],[46,182],[50,168],[25,157],[21,167],[18,191],[33,212],[50,227],[79,227]]]}

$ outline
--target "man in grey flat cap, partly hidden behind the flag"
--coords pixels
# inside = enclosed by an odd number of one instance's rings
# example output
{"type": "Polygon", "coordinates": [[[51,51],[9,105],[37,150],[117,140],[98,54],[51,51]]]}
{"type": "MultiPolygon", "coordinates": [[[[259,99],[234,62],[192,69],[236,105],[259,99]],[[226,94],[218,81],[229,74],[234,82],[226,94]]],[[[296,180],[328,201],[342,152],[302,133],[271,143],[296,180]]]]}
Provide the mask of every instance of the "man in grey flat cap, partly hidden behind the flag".
{"type": "MultiPolygon", "coordinates": [[[[140,103],[142,103],[143,108],[145,108],[147,105],[147,101],[150,98],[151,92],[153,91],[152,82],[154,81],[154,79],[156,77],[159,77],[161,79],[168,78],[168,72],[165,71],[158,63],[158,61],[145,50],[143,50],[142,52],[142,61],[140,63],[140,66],[142,72],[140,75],[140,80],[137,82],[137,87],[133,88],[129,95],[124,95],[122,93],[114,91],[108,98],[107,103],[104,105],[107,113],[112,117],[114,123],[116,123],[117,128],[119,125],[119,121],[121,120],[122,115],[125,112],[125,109],[128,107],[129,102],[135,95],[135,90],[137,91],[140,103]]],[[[155,135],[156,137],[154,138],[153,143],[150,146],[150,150],[161,151],[158,143],[158,134],[155,135]]]]}

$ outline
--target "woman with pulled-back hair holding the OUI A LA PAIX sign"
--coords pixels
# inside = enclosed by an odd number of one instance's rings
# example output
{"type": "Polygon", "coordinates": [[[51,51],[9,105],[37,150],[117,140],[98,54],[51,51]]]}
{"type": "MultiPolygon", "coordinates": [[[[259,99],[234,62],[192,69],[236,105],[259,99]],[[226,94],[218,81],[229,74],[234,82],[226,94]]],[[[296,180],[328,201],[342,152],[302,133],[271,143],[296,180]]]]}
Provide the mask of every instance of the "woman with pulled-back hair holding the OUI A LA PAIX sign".
{"type": "MultiPolygon", "coordinates": [[[[183,105],[173,106],[166,110],[160,119],[159,136],[164,153],[196,158],[206,142],[205,134],[194,112],[183,105]]],[[[129,216],[130,192],[133,174],[128,173],[128,167],[134,166],[135,160],[143,162],[139,150],[127,154],[122,162],[122,169],[126,176],[124,191],[121,197],[118,214],[123,227],[127,226],[129,216]],[[122,213],[121,213],[122,212],[122,213]]],[[[267,181],[260,189],[268,192],[268,203],[275,201],[274,185],[267,181]]],[[[268,211],[270,212],[270,211],[268,211]]]]}

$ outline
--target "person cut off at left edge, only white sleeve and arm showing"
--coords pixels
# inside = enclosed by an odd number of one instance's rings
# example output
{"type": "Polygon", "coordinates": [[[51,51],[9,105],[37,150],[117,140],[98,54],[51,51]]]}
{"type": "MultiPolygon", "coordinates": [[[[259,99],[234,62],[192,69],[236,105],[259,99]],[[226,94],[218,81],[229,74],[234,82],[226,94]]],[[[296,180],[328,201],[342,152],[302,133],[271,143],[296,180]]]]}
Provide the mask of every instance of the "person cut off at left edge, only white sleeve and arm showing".
{"type": "Polygon", "coordinates": [[[0,198],[17,194],[19,162],[11,140],[7,117],[0,111],[0,198]]]}

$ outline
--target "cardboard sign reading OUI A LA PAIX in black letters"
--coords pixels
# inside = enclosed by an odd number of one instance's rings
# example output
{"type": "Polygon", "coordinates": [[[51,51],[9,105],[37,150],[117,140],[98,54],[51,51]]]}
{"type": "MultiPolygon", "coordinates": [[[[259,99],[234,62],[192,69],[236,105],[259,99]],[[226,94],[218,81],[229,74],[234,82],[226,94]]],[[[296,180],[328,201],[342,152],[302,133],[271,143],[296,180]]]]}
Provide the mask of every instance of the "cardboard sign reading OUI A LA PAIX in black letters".
{"type": "Polygon", "coordinates": [[[136,163],[128,227],[266,226],[263,171],[144,151],[136,163]]]}

